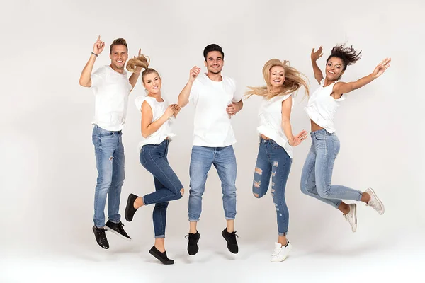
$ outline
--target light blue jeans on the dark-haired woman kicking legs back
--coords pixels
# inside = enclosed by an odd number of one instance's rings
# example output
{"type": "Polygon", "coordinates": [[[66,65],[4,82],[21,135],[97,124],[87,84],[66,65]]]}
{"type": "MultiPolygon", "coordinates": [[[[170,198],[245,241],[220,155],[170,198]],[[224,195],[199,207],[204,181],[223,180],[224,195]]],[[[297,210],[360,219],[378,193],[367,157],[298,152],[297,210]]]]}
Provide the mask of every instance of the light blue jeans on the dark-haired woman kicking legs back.
{"type": "Polygon", "coordinates": [[[338,208],[342,200],[361,200],[362,192],[342,185],[331,185],[339,139],[326,129],[311,134],[312,146],[302,168],[301,191],[338,208]]]}

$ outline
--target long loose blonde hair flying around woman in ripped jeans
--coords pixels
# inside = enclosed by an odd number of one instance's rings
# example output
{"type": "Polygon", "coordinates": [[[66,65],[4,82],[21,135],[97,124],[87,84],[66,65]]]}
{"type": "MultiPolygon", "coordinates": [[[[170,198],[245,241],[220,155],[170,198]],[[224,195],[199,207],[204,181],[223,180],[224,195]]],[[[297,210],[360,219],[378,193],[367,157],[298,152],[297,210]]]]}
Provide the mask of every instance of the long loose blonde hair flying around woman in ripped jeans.
{"type": "Polygon", "coordinates": [[[266,81],[266,86],[249,86],[249,91],[246,91],[245,93],[246,98],[250,98],[251,96],[262,96],[263,98],[270,100],[275,96],[285,96],[289,93],[296,93],[301,86],[304,86],[305,94],[307,96],[309,95],[309,88],[306,83],[307,78],[297,69],[290,67],[289,61],[287,60],[268,60],[263,67],[263,77],[264,81],[266,81]],[[273,92],[270,83],[270,70],[275,66],[280,66],[285,69],[285,81],[279,91],[273,92]]]}

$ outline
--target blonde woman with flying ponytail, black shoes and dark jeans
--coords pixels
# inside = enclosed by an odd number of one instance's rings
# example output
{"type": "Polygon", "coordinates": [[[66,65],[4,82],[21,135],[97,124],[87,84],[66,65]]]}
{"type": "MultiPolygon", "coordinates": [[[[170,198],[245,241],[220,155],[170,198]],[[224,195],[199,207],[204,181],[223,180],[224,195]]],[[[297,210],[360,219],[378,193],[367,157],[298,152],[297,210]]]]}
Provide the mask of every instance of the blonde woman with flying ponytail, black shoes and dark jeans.
{"type": "Polygon", "coordinates": [[[142,71],[142,84],[147,96],[136,98],[136,107],[142,115],[142,141],[139,144],[140,163],[154,175],[155,192],[143,197],[130,194],[125,207],[125,219],[132,221],[137,209],[155,204],[153,212],[155,243],[149,250],[164,265],[171,265],[174,260],[167,257],[165,251],[166,210],[171,200],[183,197],[183,185],[167,160],[171,132],[171,121],[180,112],[180,106],[170,104],[162,97],[162,80],[155,69],[149,68],[150,59],[145,55],[130,59],[128,71],[142,71]]]}

